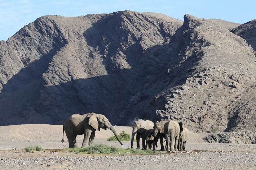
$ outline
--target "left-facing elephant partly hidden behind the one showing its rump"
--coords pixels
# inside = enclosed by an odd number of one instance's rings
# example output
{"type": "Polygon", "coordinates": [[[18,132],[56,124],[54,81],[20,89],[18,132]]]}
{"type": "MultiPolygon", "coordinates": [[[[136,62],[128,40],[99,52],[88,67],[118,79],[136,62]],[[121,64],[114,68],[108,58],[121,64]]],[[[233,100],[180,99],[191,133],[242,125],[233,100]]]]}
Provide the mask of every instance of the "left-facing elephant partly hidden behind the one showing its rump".
{"type": "Polygon", "coordinates": [[[163,138],[165,138],[165,135],[164,135],[164,125],[167,123],[168,121],[167,120],[162,120],[162,121],[159,121],[159,122],[156,122],[154,124],[154,137],[156,138],[156,143],[158,142],[158,138],[160,138],[160,144],[161,144],[161,151],[164,151],[166,146],[164,147],[164,142],[163,142],[163,138]]]}

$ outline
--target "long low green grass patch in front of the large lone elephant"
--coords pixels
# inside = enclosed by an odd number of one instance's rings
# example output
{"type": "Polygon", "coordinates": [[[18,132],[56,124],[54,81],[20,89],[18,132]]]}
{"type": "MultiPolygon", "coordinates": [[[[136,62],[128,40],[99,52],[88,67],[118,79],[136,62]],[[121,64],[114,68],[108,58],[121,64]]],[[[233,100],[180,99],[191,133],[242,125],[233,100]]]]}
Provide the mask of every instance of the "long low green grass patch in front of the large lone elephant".
{"type": "MultiPolygon", "coordinates": [[[[133,154],[133,155],[143,155],[150,154],[152,150],[138,150],[138,149],[121,149],[115,146],[110,146],[106,144],[91,144],[87,148],[68,148],[66,149],[69,152],[82,153],[82,154],[133,154]]],[[[159,152],[160,153],[160,152],[159,152]]]]}

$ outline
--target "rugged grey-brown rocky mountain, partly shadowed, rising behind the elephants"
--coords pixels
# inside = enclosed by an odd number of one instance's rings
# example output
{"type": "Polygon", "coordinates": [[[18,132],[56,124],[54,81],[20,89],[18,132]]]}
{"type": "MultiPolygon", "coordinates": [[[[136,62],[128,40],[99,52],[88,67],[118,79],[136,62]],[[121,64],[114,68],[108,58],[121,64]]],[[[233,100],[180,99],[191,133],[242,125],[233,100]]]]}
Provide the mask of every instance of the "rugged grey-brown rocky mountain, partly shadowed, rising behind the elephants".
{"type": "Polygon", "coordinates": [[[73,113],[256,131],[256,20],[120,11],[43,16],[0,41],[1,125],[73,113]]]}

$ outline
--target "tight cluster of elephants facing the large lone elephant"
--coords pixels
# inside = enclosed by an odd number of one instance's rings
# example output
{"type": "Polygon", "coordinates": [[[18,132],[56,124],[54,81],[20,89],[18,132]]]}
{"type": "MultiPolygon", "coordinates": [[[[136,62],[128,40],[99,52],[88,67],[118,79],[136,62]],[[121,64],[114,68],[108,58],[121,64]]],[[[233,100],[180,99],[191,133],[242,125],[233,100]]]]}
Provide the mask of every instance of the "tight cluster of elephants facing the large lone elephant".
{"type": "Polygon", "coordinates": [[[162,120],[153,123],[150,120],[134,121],[132,126],[132,141],[131,148],[133,148],[133,139],[136,135],[137,149],[140,149],[140,138],[142,139],[142,149],[146,150],[147,147],[153,150],[157,147],[158,139],[160,139],[161,151],[186,151],[186,142],[189,136],[189,130],[184,128],[182,121],[162,120]],[[166,141],[164,147],[163,138],[166,141]]]}

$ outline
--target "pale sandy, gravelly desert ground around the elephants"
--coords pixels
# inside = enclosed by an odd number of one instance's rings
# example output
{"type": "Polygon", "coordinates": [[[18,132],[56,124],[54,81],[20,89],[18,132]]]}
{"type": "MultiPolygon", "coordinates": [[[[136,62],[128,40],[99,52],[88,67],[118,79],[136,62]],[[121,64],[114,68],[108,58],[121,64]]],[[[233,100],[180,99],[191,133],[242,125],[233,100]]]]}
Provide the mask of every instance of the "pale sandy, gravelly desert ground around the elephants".
{"type": "MultiPolygon", "coordinates": [[[[132,127],[115,127],[117,133],[131,134],[132,127]]],[[[256,169],[256,144],[219,144],[202,140],[207,134],[190,133],[187,152],[151,153],[149,155],[84,155],[67,152],[69,144],[62,125],[27,124],[0,126],[0,170],[13,169],[179,169],[179,170],[241,170],[256,169]],[[40,145],[45,152],[25,152],[24,146],[40,145]]],[[[94,143],[120,148],[131,146],[124,141],[107,141],[112,131],[96,132],[94,143]]],[[[77,137],[81,146],[83,136],[77,137]]],[[[160,146],[160,143],[159,143],[160,146]]],[[[136,143],[134,143],[136,147],[136,143]]],[[[160,148],[157,148],[159,150],[160,148]]]]}

